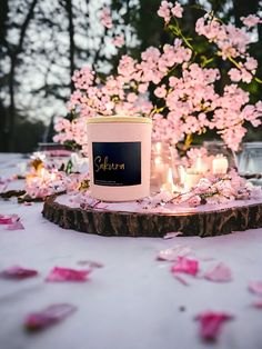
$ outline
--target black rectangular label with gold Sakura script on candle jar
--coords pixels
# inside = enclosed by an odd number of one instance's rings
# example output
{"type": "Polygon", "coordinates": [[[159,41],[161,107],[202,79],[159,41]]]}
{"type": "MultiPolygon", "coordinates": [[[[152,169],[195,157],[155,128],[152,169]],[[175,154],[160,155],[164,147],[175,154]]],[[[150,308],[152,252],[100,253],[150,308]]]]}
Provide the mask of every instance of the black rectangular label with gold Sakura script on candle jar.
{"type": "Polygon", "coordinates": [[[92,150],[94,185],[141,185],[141,142],[93,142],[92,150]]]}

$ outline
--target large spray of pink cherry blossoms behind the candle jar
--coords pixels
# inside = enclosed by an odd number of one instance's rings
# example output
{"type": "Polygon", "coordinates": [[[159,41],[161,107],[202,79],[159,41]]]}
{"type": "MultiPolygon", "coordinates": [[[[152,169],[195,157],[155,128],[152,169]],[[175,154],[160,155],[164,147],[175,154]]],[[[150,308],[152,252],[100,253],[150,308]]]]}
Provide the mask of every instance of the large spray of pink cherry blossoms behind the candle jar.
{"type": "MultiPolygon", "coordinates": [[[[102,21],[110,28],[108,11],[102,12],[102,21]]],[[[158,14],[169,28],[172,19],[183,14],[179,2],[162,1],[158,14]]],[[[205,63],[194,61],[195,54],[184,36],[162,49],[154,47],[141,52],[141,60],[122,56],[115,76],[104,80],[88,67],[75,71],[72,80],[75,91],[70,98],[68,109],[79,118],[72,122],[60,119],[54,140],[74,140],[87,146],[85,119],[100,116],[129,114],[145,116],[153,119],[153,139],[177,144],[188,136],[215,130],[223,141],[238,150],[246,132],[246,121],[253,127],[261,124],[262,102],[250,104],[250,96],[238,82],[250,83],[258,68],[258,61],[250,57],[249,28],[261,22],[255,16],[243,19],[246,27],[236,28],[224,24],[213,14],[198,19],[195,32],[206,38],[214,56],[229,61],[228,77],[231,80],[220,92],[216,83],[222,77],[219,69],[206,68],[205,63]],[[153,91],[155,103],[149,99],[153,91]]],[[[177,27],[178,32],[182,32],[177,27]]],[[[115,38],[121,46],[123,38],[115,38]]],[[[213,58],[206,61],[213,61],[213,58]]]]}

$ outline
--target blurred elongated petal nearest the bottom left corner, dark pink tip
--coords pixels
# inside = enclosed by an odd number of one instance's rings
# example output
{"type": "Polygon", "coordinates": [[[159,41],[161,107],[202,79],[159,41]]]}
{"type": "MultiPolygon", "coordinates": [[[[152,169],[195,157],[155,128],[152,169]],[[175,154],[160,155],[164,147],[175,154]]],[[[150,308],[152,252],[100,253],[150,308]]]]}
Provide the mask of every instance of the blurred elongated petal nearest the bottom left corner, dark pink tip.
{"type": "Polygon", "coordinates": [[[29,331],[42,330],[73,313],[77,307],[67,303],[52,305],[41,311],[31,312],[24,320],[24,327],[29,331]]]}

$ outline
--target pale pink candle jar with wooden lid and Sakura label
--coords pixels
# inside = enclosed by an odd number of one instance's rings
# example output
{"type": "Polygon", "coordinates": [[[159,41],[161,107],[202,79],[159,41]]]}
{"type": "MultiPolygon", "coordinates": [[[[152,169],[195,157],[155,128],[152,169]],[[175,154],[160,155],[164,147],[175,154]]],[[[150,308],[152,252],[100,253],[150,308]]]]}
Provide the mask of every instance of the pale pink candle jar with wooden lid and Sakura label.
{"type": "Polygon", "coordinates": [[[142,117],[88,119],[91,196],[103,201],[150,195],[152,120],[142,117]]]}

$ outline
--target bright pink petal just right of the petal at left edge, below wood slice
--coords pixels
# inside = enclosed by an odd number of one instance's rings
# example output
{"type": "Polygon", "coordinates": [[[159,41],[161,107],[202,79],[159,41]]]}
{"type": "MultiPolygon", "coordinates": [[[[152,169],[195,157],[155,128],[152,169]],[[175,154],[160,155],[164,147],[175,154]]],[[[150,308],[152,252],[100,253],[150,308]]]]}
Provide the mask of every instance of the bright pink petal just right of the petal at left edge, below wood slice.
{"type": "Polygon", "coordinates": [[[54,282],[64,282],[64,281],[83,282],[88,280],[90,272],[91,272],[91,269],[77,270],[77,269],[70,269],[70,268],[54,267],[50,271],[46,280],[54,281],[54,282]]]}

